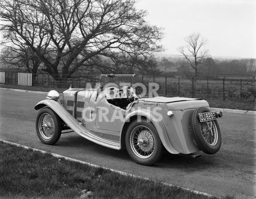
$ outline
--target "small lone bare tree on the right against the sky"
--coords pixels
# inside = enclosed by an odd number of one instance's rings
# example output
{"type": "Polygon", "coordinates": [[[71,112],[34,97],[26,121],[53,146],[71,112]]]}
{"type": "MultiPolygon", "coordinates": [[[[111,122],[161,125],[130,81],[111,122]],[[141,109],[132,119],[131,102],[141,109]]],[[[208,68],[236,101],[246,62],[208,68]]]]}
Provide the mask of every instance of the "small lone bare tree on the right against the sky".
{"type": "Polygon", "coordinates": [[[187,45],[180,47],[179,52],[189,62],[191,67],[195,70],[195,77],[199,73],[199,65],[204,63],[204,59],[207,58],[208,50],[203,49],[207,43],[199,33],[193,33],[184,39],[187,45]]]}

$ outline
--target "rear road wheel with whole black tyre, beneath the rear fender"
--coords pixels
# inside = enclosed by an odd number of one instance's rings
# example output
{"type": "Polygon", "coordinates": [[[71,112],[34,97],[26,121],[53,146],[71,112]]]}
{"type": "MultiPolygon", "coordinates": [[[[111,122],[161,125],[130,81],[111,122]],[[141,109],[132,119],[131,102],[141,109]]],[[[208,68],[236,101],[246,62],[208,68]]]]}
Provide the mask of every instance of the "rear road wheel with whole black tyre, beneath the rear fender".
{"type": "Polygon", "coordinates": [[[131,122],[125,135],[125,145],[131,159],[138,164],[152,165],[163,153],[163,144],[158,132],[146,119],[131,122]]]}

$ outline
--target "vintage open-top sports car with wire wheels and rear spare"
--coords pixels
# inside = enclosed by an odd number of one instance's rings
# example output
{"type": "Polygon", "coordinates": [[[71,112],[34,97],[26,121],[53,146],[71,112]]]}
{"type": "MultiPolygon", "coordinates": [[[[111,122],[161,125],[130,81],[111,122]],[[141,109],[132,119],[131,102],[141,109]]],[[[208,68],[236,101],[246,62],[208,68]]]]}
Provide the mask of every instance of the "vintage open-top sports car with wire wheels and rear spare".
{"type": "Polygon", "coordinates": [[[61,100],[59,93],[51,90],[47,99],[35,106],[40,109],[36,118],[39,139],[55,144],[61,132],[71,128],[102,146],[126,148],[131,158],[143,165],[158,161],[164,148],[171,154],[215,154],[220,149],[217,118],[222,117],[221,112],[210,111],[203,99],[142,97],[134,77],[101,74],[97,89],[69,88],[61,100]],[[118,78],[131,81],[117,85],[114,80],[118,78]]]}

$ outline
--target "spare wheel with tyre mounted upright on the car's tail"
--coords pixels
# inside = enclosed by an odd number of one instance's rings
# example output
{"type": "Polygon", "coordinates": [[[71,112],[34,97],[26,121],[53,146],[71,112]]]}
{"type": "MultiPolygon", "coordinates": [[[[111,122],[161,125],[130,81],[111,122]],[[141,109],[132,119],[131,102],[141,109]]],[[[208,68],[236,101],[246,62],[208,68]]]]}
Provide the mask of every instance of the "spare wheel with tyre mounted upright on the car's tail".
{"type": "Polygon", "coordinates": [[[199,113],[209,112],[207,107],[198,107],[191,116],[191,130],[197,146],[205,154],[215,154],[221,147],[221,131],[217,120],[200,122],[199,113]]]}

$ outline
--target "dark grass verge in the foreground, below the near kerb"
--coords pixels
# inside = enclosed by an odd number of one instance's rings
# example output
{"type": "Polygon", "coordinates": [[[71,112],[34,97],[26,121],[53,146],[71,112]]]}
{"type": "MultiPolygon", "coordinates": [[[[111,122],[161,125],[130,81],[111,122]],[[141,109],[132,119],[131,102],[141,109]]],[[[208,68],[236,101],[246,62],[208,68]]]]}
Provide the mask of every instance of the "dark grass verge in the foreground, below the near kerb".
{"type": "Polygon", "coordinates": [[[84,189],[93,192],[92,198],[209,198],[3,142],[0,156],[0,197],[4,198],[80,198],[84,189]]]}

